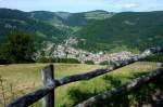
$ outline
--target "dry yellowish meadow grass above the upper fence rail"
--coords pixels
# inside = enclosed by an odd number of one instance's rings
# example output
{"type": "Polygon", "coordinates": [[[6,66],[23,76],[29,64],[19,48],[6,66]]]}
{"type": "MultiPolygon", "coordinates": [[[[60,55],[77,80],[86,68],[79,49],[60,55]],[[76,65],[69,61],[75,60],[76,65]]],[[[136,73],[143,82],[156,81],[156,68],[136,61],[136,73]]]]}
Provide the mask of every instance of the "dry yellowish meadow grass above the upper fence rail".
{"type": "MultiPolygon", "coordinates": [[[[0,65],[0,76],[3,79],[3,86],[5,90],[5,98],[10,101],[11,91],[10,84],[13,85],[15,96],[24,95],[42,85],[41,69],[48,64],[13,64],[0,65]]],[[[61,78],[68,75],[80,73],[97,68],[99,65],[85,64],[54,64],[55,77],[61,78]]],[[[2,99],[2,90],[0,86],[0,99],[2,99]]],[[[0,103],[1,104],[1,103],[0,103]]]]}

